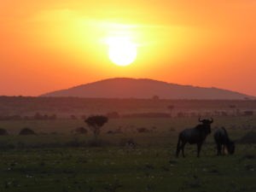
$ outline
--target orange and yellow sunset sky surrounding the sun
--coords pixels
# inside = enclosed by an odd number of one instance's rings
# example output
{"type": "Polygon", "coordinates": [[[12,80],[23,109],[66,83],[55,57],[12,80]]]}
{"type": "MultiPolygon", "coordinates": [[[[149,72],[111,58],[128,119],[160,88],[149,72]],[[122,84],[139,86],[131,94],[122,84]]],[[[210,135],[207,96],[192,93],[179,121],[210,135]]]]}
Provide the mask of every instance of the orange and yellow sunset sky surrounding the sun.
{"type": "Polygon", "coordinates": [[[0,95],[38,96],[115,77],[256,96],[256,1],[0,1],[0,95]],[[108,58],[128,35],[137,60],[108,58]]]}

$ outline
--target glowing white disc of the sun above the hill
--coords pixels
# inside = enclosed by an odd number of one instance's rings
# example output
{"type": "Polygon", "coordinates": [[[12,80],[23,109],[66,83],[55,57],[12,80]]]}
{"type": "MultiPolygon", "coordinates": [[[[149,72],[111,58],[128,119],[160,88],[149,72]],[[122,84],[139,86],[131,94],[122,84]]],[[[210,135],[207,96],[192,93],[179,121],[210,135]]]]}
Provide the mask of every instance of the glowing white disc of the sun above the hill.
{"type": "Polygon", "coordinates": [[[133,44],[126,37],[109,37],[107,39],[109,45],[109,59],[118,66],[127,66],[135,61],[137,57],[136,44],[133,44]]]}

